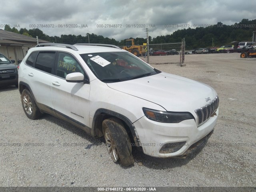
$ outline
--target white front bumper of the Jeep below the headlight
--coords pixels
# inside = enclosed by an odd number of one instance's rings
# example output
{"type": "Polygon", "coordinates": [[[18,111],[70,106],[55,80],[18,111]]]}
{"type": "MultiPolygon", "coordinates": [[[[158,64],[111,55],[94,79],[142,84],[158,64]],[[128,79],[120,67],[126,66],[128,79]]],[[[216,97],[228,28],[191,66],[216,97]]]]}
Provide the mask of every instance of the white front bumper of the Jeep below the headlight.
{"type": "Polygon", "coordinates": [[[218,109],[216,115],[210,117],[199,127],[196,126],[194,119],[180,123],[160,123],[149,120],[146,116],[134,122],[134,126],[143,152],[150,156],[164,158],[182,156],[192,152],[195,146],[193,144],[199,140],[202,141],[212,132],[217,118],[218,109]]]}

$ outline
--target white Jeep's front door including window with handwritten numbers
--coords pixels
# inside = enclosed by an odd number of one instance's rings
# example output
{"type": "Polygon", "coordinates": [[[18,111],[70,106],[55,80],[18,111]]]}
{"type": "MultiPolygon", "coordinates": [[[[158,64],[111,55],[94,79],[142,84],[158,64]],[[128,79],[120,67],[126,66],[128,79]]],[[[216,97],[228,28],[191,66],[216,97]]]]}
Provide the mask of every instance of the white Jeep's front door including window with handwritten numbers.
{"type": "Polygon", "coordinates": [[[76,58],[66,52],[58,52],[51,80],[52,102],[56,115],[90,133],[89,95],[90,84],[66,82],[67,74],[84,69],[76,58]]]}

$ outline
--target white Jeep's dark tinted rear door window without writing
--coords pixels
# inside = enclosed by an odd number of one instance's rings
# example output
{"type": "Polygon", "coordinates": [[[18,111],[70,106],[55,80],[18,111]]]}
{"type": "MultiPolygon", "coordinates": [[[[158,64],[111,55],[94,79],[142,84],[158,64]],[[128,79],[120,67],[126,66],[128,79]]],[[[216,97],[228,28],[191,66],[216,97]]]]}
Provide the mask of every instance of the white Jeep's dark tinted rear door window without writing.
{"type": "Polygon", "coordinates": [[[56,52],[55,51],[44,51],[39,52],[36,59],[36,69],[42,70],[47,73],[52,73],[54,67],[56,52]]]}

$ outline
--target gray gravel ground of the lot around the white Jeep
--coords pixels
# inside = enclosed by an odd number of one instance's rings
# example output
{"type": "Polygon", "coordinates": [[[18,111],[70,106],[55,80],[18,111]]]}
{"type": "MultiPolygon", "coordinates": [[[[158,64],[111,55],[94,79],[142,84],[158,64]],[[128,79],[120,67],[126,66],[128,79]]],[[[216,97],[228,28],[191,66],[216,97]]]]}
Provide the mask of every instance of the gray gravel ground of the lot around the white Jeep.
{"type": "Polygon", "coordinates": [[[0,88],[0,186],[256,186],[256,60],[239,57],[186,55],[185,67],[152,64],[212,86],[219,119],[192,156],[153,158],[135,149],[128,168],[111,161],[101,138],[47,114],[28,119],[18,89],[0,88]]]}

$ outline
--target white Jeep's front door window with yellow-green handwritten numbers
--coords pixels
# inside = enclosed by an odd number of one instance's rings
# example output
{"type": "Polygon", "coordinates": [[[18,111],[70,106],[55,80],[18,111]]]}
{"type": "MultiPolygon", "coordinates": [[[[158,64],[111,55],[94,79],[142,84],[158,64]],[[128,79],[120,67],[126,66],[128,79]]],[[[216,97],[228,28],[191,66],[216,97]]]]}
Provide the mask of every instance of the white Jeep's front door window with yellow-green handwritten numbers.
{"type": "Polygon", "coordinates": [[[65,52],[59,52],[56,68],[56,75],[61,78],[66,78],[67,74],[75,72],[80,72],[84,75],[84,70],[74,56],[65,52]]]}

